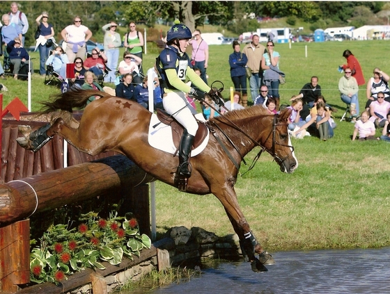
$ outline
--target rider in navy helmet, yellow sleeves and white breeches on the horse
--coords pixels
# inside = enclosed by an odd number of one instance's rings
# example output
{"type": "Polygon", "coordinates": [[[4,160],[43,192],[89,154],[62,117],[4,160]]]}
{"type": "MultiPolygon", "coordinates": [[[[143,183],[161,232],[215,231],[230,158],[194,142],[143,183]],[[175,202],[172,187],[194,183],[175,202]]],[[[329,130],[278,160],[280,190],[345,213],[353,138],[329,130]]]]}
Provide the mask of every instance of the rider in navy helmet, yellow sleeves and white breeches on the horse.
{"type": "Polygon", "coordinates": [[[191,177],[188,159],[198,123],[192,115],[185,93],[198,101],[203,101],[205,93],[211,90],[194,72],[189,56],[185,53],[191,39],[192,33],[187,26],[174,24],[166,35],[166,48],[159,54],[156,61],[157,70],[162,78],[160,85],[164,88],[162,99],[164,109],[184,127],[179,146],[178,173],[186,178],[191,177]],[[186,78],[192,81],[197,89],[187,85],[186,78]]]}

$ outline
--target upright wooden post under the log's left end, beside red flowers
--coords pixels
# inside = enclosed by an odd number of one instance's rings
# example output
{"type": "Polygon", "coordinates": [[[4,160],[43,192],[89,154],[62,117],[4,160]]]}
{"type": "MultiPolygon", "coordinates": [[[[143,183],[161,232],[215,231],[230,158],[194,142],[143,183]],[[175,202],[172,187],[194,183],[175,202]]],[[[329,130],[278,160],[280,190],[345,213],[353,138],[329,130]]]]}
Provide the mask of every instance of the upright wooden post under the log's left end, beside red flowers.
{"type": "Polygon", "coordinates": [[[0,228],[0,292],[30,282],[30,220],[0,228]]]}

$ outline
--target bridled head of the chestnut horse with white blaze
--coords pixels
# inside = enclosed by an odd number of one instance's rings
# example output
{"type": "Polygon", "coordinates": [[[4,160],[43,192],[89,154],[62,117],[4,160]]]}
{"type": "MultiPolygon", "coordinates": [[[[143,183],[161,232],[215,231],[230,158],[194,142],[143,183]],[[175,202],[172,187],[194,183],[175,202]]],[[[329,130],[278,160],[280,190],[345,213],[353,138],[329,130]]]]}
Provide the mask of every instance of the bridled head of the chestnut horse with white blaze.
{"type": "Polygon", "coordinates": [[[290,109],[281,111],[274,115],[272,129],[263,146],[267,149],[280,165],[281,172],[293,172],[298,167],[298,161],[294,154],[294,147],[291,145],[290,133],[288,132],[288,117],[290,109]]]}

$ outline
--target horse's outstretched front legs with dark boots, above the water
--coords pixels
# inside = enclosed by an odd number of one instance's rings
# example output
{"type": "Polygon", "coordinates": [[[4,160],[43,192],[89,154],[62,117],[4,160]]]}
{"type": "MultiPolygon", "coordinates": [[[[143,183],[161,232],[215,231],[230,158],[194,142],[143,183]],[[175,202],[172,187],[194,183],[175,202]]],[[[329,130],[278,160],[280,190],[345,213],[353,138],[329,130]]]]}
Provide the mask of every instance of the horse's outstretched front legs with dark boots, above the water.
{"type": "Polygon", "coordinates": [[[218,193],[213,193],[224,205],[225,211],[228,215],[233,229],[240,238],[240,245],[242,248],[242,254],[247,256],[251,262],[251,268],[254,272],[264,272],[267,271],[264,264],[274,264],[275,261],[270,254],[265,252],[260,243],[256,240],[255,236],[252,234],[251,229],[247,220],[245,219],[240,206],[237,202],[237,195],[235,190],[232,188],[221,190],[219,189],[218,193]],[[255,254],[258,254],[256,258],[255,254]]]}

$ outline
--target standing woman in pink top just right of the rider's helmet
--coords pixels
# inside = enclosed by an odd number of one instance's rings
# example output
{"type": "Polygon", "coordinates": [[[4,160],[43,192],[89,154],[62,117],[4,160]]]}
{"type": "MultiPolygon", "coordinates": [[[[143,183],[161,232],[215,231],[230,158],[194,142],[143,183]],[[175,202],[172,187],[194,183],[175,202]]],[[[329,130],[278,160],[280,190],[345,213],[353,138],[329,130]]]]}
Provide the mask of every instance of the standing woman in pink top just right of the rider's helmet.
{"type": "Polygon", "coordinates": [[[208,44],[201,37],[201,31],[195,30],[192,34],[194,39],[189,40],[192,46],[191,62],[192,65],[201,70],[201,79],[207,82],[206,70],[208,68],[208,44]],[[195,64],[193,64],[195,62],[195,64]]]}

